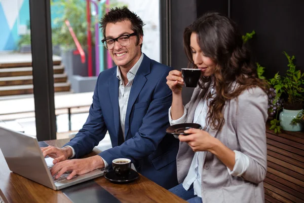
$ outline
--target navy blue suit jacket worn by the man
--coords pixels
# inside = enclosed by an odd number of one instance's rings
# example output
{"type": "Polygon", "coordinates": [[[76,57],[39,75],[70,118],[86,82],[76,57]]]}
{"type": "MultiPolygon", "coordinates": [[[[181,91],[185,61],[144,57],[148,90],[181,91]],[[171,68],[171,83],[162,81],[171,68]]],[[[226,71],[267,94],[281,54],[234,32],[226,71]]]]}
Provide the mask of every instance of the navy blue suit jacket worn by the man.
{"type": "Polygon", "coordinates": [[[75,158],[90,153],[108,130],[112,148],[99,155],[109,166],[113,159],[129,158],[136,170],[148,179],[167,189],[177,185],[179,142],[166,134],[170,125],[168,109],[172,103],[172,91],[166,84],[166,77],[171,70],[144,55],[131,87],[122,144],[119,143],[122,130],[117,67],[101,72],[88,119],[75,138],[66,144],[74,148],[75,158]]]}

